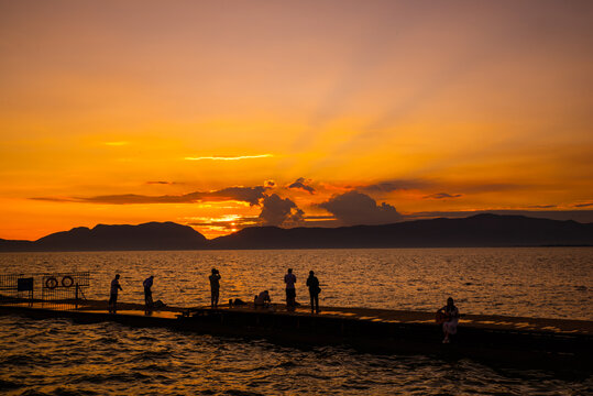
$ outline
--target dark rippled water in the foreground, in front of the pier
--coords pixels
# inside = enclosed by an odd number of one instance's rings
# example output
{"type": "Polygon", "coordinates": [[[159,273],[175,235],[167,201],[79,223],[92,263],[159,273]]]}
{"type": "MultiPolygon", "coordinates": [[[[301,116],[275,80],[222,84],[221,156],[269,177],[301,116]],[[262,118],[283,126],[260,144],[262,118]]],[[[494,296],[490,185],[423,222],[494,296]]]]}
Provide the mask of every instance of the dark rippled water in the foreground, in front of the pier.
{"type": "Polygon", "coordinates": [[[593,377],[0,317],[6,395],[586,395],[593,377]]]}

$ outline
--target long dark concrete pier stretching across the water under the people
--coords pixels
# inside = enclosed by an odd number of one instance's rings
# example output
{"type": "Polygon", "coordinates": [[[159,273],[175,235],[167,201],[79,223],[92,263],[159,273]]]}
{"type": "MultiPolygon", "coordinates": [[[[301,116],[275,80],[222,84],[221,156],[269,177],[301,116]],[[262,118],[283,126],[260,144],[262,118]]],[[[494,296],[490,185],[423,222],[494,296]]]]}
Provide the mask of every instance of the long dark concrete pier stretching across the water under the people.
{"type": "Polygon", "coordinates": [[[142,305],[119,304],[117,315],[106,301],[85,301],[54,309],[43,302],[1,305],[0,314],[36,318],[66,317],[78,322],[114,321],[127,326],[167,327],[183,331],[267,339],[290,345],[347,344],[378,353],[421,353],[444,359],[521,366],[593,371],[593,321],[466,315],[458,334],[442,344],[441,327],[430,312],[326,307],[287,311],[284,306],[165,307],[147,316],[142,305]],[[66,308],[64,308],[66,307],[66,308]]]}

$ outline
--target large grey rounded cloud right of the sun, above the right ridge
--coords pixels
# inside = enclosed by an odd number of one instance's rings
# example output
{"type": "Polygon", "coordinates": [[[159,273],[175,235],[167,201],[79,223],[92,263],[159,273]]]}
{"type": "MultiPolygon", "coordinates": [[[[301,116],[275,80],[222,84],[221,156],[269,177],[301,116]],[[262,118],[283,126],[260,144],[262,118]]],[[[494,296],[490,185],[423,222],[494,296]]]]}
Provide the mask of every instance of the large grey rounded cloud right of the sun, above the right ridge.
{"type": "Polygon", "coordinates": [[[349,191],[333,196],[318,205],[332,213],[341,223],[352,224],[386,224],[400,221],[403,216],[391,205],[381,204],[359,191],[349,191]]]}

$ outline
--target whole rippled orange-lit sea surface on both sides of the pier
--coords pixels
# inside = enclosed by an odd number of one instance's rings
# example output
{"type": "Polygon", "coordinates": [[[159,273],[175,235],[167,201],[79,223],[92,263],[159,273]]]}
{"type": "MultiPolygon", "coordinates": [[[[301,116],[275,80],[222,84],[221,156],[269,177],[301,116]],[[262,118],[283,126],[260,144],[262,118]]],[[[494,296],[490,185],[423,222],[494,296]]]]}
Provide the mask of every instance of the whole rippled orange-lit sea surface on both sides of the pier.
{"type": "MultiPolygon", "coordinates": [[[[208,302],[212,267],[222,275],[222,300],[268,289],[279,302],[293,267],[304,302],[314,270],[326,306],[435,311],[452,296],[468,314],[593,320],[593,249],[586,248],[0,254],[2,273],[90,271],[88,298],[107,299],[118,272],[120,300],[141,302],[142,280],[155,275],[155,300],[186,307],[208,302]]],[[[593,377],[0,317],[0,393],[581,395],[593,393],[593,377]]]]}

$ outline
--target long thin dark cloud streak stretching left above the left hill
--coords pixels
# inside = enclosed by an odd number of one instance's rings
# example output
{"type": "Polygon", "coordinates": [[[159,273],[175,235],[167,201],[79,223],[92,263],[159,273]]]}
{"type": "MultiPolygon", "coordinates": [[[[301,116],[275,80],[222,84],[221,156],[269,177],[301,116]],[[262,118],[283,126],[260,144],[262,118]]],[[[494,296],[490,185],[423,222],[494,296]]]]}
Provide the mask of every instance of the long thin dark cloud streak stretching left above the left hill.
{"type": "Polygon", "coordinates": [[[264,191],[270,187],[228,187],[215,191],[194,191],[183,195],[145,196],[138,194],[105,195],[96,197],[36,197],[34,200],[55,202],[85,202],[107,205],[132,205],[132,204],[195,204],[201,201],[238,200],[251,206],[260,205],[260,199],[266,197],[264,191]]]}

